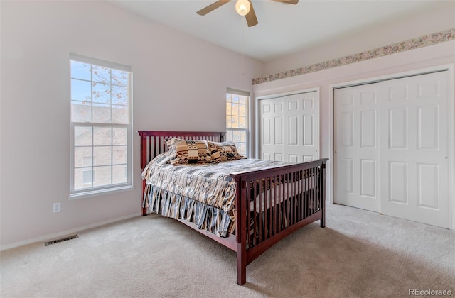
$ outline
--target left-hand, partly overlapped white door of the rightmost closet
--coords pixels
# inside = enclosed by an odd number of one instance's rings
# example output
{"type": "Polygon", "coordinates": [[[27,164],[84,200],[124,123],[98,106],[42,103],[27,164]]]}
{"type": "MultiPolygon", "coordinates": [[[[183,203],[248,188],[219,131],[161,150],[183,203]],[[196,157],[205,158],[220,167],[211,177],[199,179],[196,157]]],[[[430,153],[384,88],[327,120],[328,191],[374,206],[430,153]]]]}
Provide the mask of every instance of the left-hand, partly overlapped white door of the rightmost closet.
{"type": "Polygon", "coordinates": [[[380,211],[380,84],[336,89],[334,94],[333,202],[380,211]]]}

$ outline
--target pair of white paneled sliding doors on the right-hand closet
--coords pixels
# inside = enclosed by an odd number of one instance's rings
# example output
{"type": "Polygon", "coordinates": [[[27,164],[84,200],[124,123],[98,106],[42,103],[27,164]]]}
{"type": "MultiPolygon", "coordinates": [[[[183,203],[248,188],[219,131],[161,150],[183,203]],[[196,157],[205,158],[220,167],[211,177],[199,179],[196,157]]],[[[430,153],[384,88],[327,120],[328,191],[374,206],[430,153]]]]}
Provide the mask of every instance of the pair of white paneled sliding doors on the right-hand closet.
{"type": "Polygon", "coordinates": [[[448,72],[334,93],[333,201],[449,228],[448,72]]]}

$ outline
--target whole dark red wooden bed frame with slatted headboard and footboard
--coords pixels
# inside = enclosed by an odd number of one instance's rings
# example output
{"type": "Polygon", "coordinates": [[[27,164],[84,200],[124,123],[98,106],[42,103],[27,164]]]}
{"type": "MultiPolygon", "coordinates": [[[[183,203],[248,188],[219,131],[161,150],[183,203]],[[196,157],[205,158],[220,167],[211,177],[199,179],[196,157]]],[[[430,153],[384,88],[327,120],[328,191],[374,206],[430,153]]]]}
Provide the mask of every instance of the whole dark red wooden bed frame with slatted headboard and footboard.
{"type": "MultiPolygon", "coordinates": [[[[139,131],[139,135],[141,169],[144,169],[154,156],[167,150],[167,138],[221,142],[225,133],[139,131]]],[[[272,169],[231,174],[237,184],[235,235],[228,234],[228,237],[222,238],[198,229],[195,224],[186,220],[179,221],[234,250],[237,253],[237,284],[243,285],[247,281],[247,265],[272,245],[314,221],[321,221],[322,228],[325,226],[327,160],[321,158],[272,169]],[[283,181],[291,183],[287,187],[273,187],[283,181]],[[254,210],[249,212],[248,209],[254,210]]],[[[145,180],[142,186],[144,198],[145,180]]],[[[147,208],[143,207],[142,215],[146,214],[147,208]]]]}

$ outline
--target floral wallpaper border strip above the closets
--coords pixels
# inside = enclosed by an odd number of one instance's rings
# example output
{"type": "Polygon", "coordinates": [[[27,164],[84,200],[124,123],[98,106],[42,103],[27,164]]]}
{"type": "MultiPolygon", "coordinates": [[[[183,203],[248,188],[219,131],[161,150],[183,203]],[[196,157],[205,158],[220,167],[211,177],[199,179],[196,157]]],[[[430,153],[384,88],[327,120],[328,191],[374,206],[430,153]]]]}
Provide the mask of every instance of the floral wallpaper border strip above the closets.
{"type": "Polygon", "coordinates": [[[361,62],[365,60],[370,60],[377,57],[392,55],[407,50],[414,50],[417,48],[423,48],[428,45],[436,45],[437,43],[443,43],[444,41],[455,40],[455,28],[448,29],[446,31],[440,31],[437,33],[424,35],[418,38],[412,38],[410,40],[405,40],[400,43],[392,43],[391,45],[385,45],[381,48],[375,48],[373,50],[367,50],[362,53],[357,53],[354,55],[348,55],[341,58],[336,58],[328,60],[325,62],[316,63],[313,65],[308,65],[295,70],[287,70],[284,72],[279,72],[274,75],[268,75],[265,77],[258,77],[253,79],[253,85],[261,84],[265,82],[271,82],[277,79],[285,79],[287,77],[295,77],[296,75],[304,75],[310,72],[318,72],[320,70],[327,70],[329,68],[348,65],[355,62],[361,62]]]}

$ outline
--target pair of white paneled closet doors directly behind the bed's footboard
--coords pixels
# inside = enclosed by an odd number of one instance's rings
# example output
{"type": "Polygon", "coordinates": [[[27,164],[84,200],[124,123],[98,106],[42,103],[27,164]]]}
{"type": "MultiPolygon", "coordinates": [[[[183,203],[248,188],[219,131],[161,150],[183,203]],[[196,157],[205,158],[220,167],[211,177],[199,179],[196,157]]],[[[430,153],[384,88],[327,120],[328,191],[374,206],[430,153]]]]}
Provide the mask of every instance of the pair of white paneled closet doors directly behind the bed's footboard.
{"type": "Polygon", "coordinates": [[[259,99],[259,158],[319,159],[319,91],[259,99]]]}

